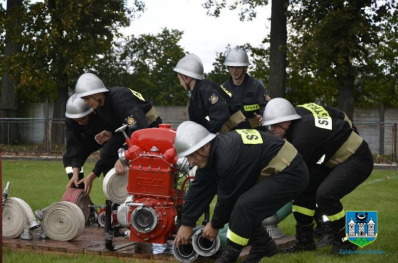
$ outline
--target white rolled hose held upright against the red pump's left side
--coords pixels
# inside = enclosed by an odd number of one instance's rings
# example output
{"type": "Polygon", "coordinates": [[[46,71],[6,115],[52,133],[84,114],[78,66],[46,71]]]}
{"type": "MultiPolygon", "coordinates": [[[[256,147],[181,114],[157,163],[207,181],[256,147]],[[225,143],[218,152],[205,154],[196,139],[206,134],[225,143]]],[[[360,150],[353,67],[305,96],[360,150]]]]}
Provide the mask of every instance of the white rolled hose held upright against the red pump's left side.
{"type": "Polygon", "coordinates": [[[102,183],[104,195],[112,200],[112,202],[121,204],[125,202],[129,196],[127,192],[127,184],[129,181],[129,174],[116,175],[115,168],[109,170],[102,183]]]}

